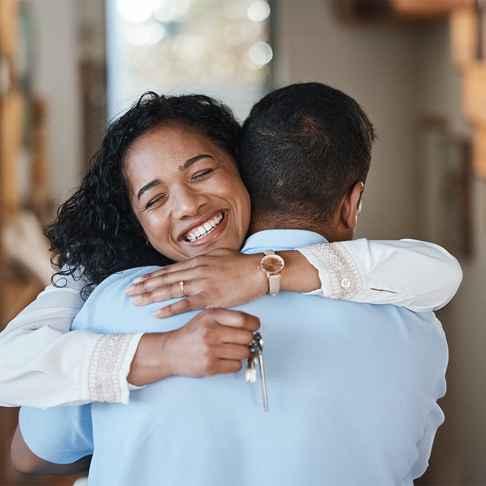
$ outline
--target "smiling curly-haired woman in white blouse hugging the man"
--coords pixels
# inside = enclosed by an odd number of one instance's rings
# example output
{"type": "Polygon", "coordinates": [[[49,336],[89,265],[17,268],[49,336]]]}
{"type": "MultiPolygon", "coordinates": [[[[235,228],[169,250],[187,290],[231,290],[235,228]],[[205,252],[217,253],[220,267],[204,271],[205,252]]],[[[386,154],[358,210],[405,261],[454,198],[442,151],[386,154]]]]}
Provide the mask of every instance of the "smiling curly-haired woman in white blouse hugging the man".
{"type": "MultiPolygon", "coordinates": [[[[268,290],[261,272],[255,270],[256,257],[237,252],[250,217],[248,194],[235,162],[239,133],[240,126],[230,110],[205,96],[160,97],[148,93],[110,125],[80,190],[60,208],[56,223],[48,230],[61,269],[54,286],[39,295],[1,334],[2,405],[43,408],[106,400],[93,386],[93,370],[113,336],[67,331],[84,303],[80,293],[86,296],[108,275],[135,266],[187,260],[212,250],[221,252],[224,259],[213,258],[214,253],[198,257],[188,263],[193,273],[183,270],[185,277],[179,278],[182,274],[174,272],[175,280],[162,281],[168,286],[159,285],[157,279],[142,282],[143,290],[149,289],[152,294],[138,299],[138,303],[185,294],[192,297],[181,301],[186,310],[228,307],[268,290]],[[149,137],[155,133],[158,138],[149,137]],[[184,147],[194,136],[206,150],[185,159],[180,166],[164,167],[173,171],[175,186],[181,189],[172,195],[180,197],[177,208],[182,212],[168,218],[164,213],[166,193],[160,191],[164,181],[151,161],[158,147],[164,147],[167,159],[176,160],[177,147],[184,147]],[[174,146],[167,141],[174,142],[174,146]],[[201,187],[201,191],[194,192],[201,187]],[[198,201],[194,193],[203,199],[198,201]],[[208,230],[207,236],[201,232],[197,235],[191,226],[198,219],[198,208],[204,205],[218,219],[217,228],[208,230]],[[165,256],[157,251],[161,249],[161,237],[170,242],[164,246],[165,256]],[[219,271],[208,266],[215,260],[219,271]],[[224,280],[228,268],[232,268],[236,289],[232,293],[227,292],[224,280]],[[180,281],[184,284],[179,286],[180,281]]],[[[304,250],[310,261],[305,267],[302,263],[307,260],[301,253],[281,253],[286,261],[282,290],[317,291],[331,298],[433,310],[451,299],[461,278],[455,259],[429,243],[404,241],[392,245],[361,240],[330,243],[320,251],[320,257],[315,257],[304,250]],[[347,285],[343,283],[345,278],[336,279],[338,270],[331,263],[331,254],[339,254],[345,268],[355,269],[354,273],[347,272],[347,285]],[[403,265],[409,274],[410,268],[416,272],[408,284],[401,278],[403,265]],[[390,281],[390,275],[397,276],[395,282],[390,281]]],[[[177,271],[181,271],[180,266],[177,271]]],[[[139,289],[127,292],[137,295],[139,289]]],[[[181,309],[169,310],[162,316],[174,312],[181,309]]],[[[111,356],[109,386],[115,392],[109,401],[128,402],[127,375],[134,371],[134,356],[144,352],[146,340],[141,338],[141,334],[124,335],[116,355],[111,356]]]]}

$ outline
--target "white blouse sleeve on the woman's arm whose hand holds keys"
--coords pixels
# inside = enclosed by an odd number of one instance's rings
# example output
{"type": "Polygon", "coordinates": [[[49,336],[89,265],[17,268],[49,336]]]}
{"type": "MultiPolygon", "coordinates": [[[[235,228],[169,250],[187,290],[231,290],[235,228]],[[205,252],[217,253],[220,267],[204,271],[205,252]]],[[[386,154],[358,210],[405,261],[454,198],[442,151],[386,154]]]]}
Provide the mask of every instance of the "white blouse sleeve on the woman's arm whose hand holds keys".
{"type": "Polygon", "coordinates": [[[70,276],[58,282],[65,285],[46,287],[0,333],[0,406],[128,403],[137,387],[126,377],[142,333],[69,332],[86,282],[70,276]]]}

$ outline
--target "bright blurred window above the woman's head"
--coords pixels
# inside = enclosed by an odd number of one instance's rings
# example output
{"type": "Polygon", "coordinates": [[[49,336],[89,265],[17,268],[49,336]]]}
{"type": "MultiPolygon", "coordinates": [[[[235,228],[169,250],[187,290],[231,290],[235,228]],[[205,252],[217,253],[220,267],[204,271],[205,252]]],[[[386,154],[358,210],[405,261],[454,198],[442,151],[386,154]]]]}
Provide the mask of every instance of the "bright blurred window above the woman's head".
{"type": "Polygon", "coordinates": [[[147,90],[202,92],[243,119],[271,77],[264,0],[108,0],[108,117],[147,90]]]}

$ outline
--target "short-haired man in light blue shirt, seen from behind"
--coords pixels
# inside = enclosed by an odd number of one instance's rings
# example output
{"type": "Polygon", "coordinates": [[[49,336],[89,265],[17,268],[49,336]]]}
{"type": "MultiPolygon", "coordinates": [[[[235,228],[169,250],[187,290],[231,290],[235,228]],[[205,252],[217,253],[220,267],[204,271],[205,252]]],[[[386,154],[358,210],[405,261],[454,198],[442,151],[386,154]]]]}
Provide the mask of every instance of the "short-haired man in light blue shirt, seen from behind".
{"type": "MultiPolygon", "coordinates": [[[[254,204],[242,251],[352,239],[372,140],[362,109],[333,88],[298,84],[264,97],[243,126],[241,171],[254,204]]],[[[352,284],[347,260],[330,264],[341,285],[352,284]]],[[[73,328],[160,330],[158,304],[136,308],[123,293],[149,270],[106,279],[73,328]]],[[[93,484],[412,484],[424,472],[443,420],[436,400],[447,364],[432,313],[286,292],[239,309],[264,326],[269,413],[261,382],[246,383],[244,370],[172,376],[132,392],[128,406],[94,403],[93,484]]],[[[167,318],[164,330],[192,315],[167,318]]],[[[89,409],[62,410],[20,415],[27,445],[57,463],[81,458],[93,442],[89,409]],[[81,415],[72,440],[61,437],[68,448],[58,447],[54,421],[36,417],[46,412],[81,415]]]]}

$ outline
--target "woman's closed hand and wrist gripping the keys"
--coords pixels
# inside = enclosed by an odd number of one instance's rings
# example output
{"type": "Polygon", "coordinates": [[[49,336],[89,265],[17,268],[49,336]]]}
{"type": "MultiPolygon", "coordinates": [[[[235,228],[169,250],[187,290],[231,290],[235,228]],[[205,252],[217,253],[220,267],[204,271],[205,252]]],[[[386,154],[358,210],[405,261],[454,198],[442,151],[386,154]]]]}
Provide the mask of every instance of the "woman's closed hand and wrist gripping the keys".
{"type": "Polygon", "coordinates": [[[203,378],[236,373],[250,355],[258,317],[241,311],[210,309],[186,325],[142,336],[127,381],[137,386],[170,376],[203,378]]]}

